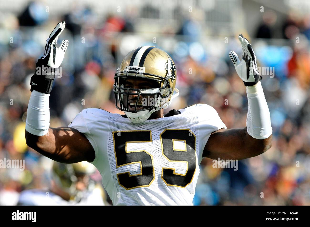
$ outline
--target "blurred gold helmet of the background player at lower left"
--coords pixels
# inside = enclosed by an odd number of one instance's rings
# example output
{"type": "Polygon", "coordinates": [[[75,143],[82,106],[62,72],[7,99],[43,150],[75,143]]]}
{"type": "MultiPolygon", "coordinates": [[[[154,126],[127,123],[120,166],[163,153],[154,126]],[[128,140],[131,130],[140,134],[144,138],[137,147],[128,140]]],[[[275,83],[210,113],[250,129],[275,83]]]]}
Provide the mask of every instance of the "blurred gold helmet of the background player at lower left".
{"type": "Polygon", "coordinates": [[[87,161],[74,164],[54,162],[52,177],[62,190],[73,196],[77,193],[76,184],[78,178],[90,175],[95,170],[95,166],[87,161]]]}

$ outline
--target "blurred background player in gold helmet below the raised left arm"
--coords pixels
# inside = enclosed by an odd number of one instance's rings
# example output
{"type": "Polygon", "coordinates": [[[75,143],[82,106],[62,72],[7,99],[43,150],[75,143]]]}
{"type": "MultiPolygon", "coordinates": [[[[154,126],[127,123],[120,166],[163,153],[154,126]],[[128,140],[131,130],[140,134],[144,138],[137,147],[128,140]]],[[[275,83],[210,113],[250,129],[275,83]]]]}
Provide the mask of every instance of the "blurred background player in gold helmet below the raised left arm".
{"type": "Polygon", "coordinates": [[[104,205],[104,191],[90,178],[94,165],[54,162],[48,190],[29,189],[20,193],[17,205],[104,205]]]}

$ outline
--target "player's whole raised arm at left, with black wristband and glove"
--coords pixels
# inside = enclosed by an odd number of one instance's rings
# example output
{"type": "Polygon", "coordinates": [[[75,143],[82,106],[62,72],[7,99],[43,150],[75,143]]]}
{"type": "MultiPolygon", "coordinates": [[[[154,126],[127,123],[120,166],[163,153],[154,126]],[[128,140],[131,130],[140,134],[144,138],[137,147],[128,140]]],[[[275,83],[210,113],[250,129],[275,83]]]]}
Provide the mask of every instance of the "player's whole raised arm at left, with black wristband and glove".
{"type": "Polygon", "coordinates": [[[29,147],[44,156],[63,163],[93,161],[95,151],[83,133],[69,127],[49,128],[49,96],[53,81],[68,47],[68,40],[57,48],[57,40],[65,28],[60,22],[54,28],[45,46],[44,55],[38,59],[31,77],[31,96],[28,104],[25,138],[29,147]]]}

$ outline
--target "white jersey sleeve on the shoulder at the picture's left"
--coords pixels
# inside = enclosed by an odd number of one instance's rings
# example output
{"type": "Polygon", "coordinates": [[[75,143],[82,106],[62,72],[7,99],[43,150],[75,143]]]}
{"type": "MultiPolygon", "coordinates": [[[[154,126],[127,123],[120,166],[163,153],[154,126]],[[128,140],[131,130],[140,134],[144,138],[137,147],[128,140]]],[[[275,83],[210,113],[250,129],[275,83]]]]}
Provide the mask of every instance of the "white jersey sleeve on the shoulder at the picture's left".
{"type": "Polygon", "coordinates": [[[94,164],[98,157],[98,149],[97,144],[93,138],[93,135],[89,131],[88,124],[90,119],[86,116],[87,109],[82,110],[78,115],[73,119],[73,121],[69,124],[70,128],[77,129],[80,133],[83,133],[88,141],[91,143],[91,146],[95,151],[95,159],[91,163],[94,164]]]}

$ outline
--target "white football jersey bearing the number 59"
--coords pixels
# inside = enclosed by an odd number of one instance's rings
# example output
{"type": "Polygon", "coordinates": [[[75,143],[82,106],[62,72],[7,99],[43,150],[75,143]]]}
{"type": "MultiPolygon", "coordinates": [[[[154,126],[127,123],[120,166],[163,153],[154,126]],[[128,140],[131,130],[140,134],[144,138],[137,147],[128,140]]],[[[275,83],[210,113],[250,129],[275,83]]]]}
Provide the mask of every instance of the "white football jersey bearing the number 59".
{"type": "Polygon", "coordinates": [[[226,128],[206,104],[138,124],[87,108],[69,127],[93,146],[92,164],[113,205],[193,205],[203,149],[210,133],[226,128]]]}

